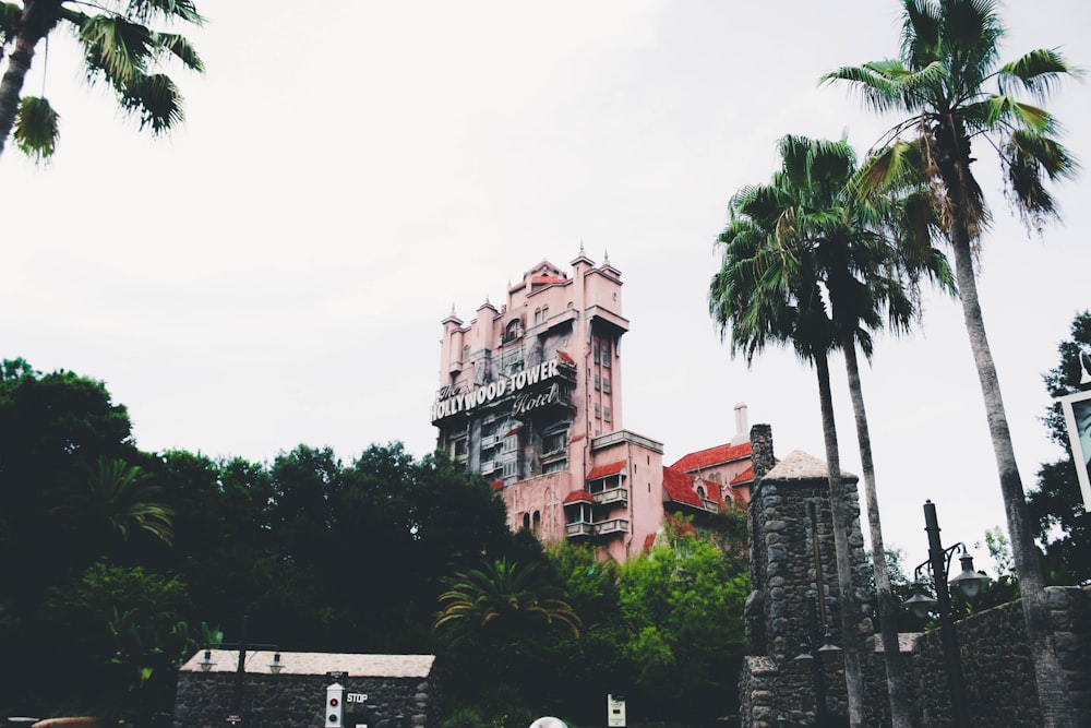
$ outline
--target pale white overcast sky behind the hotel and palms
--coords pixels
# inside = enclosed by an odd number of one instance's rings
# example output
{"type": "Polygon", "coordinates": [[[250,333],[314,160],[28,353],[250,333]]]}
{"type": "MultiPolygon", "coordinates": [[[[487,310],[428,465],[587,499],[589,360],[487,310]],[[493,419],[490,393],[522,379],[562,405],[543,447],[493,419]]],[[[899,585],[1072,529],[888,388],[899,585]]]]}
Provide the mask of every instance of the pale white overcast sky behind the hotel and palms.
{"type": "MultiPolygon", "coordinates": [[[[892,119],[818,76],[898,50],[892,0],[260,3],[204,0],[190,33],[208,71],[176,72],[185,124],[137,134],[87,88],[72,41],[43,49],[61,114],[56,159],[0,159],[0,357],[104,380],[144,450],[272,460],[304,442],[349,461],[434,445],[440,320],[466,321],[538,261],[579,249],[623,272],[627,429],[666,461],[727,441],[732,407],[778,455],[823,456],[817,389],[788,351],[753,370],[707,315],[730,195],[768,179],[787,133],[848,133],[863,154],[892,119]],[[317,10],[321,8],[321,10],[317,10]]],[[[1060,47],[1091,65],[1091,5],[1009,2],[1004,59],[1060,47]]],[[[1091,164],[1091,88],[1048,106],[1091,164]]],[[[1087,177],[1064,225],[1028,237],[991,151],[995,225],[982,305],[1024,487],[1055,460],[1041,374],[1091,306],[1087,177]]],[[[843,370],[841,460],[860,473],[843,370]]],[[[864,394],[883,525],[923,561],[921,504],[945,544],[1005,523],[961,310],[931,296],[912,339],[879,338],[864,394]]]]}

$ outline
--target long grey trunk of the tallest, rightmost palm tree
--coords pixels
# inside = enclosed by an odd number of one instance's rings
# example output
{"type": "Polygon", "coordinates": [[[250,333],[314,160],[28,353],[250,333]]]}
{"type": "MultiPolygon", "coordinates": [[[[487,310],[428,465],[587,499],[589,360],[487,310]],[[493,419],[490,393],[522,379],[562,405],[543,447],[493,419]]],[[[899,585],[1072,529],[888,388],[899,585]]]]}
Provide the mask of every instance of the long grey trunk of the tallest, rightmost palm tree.
{"type": "MultiPolygon", "coordinates": [[[[948,189],[952,188],[948,186],[948,189]]],[[[954,196],[954,195],[952,195],[954,196]]],[[[956,201],[956,210],[959,201],[956,201]]],[[[1033,530],[1023,494],[1022,479],[1016,465],[1011,433],[1000,397],[996,366],[985,337],[985,324],[978,300],[978,286],[973,273],[973,256],[970,250],[970,235],[964,220],[954,216],[951,244],[955,249],[955,273],[958,278],[962,300],[962,318],[966,321],[970,348],[973,350],[978,380],[985,402],[985,418],[993,440],[996,469],[1000,476],[1000,493],[1011,538],[1011,553],[1015,557],[1016,574],[1022,593],[1023,619],[1027,622],[1027,640],[1034,677],[1038,681],[1038,697],[1042,706],[1043,726],[1068,728],[1074,726],[1071,699],[1064,670],[1057,659],[1050,629],[1050,616],[1045,604],[1045,576],[1042,571],[1041,554],[1034,546],[1033,530]]]]}

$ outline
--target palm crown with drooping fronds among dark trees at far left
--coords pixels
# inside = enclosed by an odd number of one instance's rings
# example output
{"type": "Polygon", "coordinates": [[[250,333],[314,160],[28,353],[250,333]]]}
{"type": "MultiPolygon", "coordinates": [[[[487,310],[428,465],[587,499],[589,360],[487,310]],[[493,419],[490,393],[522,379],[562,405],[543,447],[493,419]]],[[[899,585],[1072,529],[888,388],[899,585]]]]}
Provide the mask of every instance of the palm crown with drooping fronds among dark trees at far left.
{"type": "Polygon", "coordinates": [[[70,487],[52,512],[73,522],[93,547],[104,550],[116,538],[128,541],[133,530],[147,532],[170,546],[175,512],[159,496],[159,488],[148,482],[139,465],[99,456],[96,469],[83,484],[70,487]]]}

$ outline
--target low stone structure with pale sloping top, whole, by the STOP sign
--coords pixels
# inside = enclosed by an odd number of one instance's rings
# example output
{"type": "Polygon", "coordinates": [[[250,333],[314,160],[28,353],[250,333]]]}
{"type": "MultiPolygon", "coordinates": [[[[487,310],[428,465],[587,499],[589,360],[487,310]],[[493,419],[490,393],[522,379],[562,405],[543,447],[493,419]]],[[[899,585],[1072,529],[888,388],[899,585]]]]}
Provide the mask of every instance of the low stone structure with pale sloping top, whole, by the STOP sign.
{"type": "Polygon", "coordinates": [[[344,725],[369,728],[439,726],[439,695],[432,655],[348,655],[281,653],[273,673],[274,653],[211,651],[212,668],[202,669],[205,653],[194,655],[178,675],[173,728],[221,728],[230,716],[243,728],[322,728],[331,672],[346,677],[344,725]]]}

